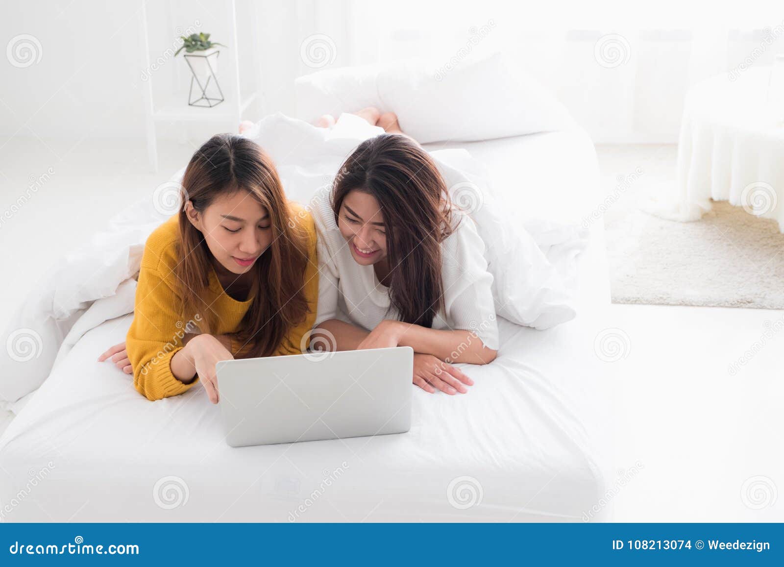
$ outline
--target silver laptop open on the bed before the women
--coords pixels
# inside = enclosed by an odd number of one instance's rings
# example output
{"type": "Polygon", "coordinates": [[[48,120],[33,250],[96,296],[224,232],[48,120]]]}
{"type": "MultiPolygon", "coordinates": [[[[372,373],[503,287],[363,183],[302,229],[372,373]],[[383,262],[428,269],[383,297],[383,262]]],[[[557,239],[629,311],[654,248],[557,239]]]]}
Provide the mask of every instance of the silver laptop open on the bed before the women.
{"type": "Polygon", "coordinates": [[[313,352],[216,364],[232,447],[405,433],[411,347],[313,352]]]}

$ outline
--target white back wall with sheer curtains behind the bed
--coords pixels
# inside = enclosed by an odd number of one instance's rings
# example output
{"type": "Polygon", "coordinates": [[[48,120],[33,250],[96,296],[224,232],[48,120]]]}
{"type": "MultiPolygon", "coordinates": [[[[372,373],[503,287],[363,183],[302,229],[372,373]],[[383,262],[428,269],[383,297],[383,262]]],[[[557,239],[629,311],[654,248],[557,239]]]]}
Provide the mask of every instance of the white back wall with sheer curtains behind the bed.
{"type": "MultiPolygon", "coordinates": [[[[243,0],[238,2],[242,86],[262,95],[261,105],[246,118],[292,111],[293,78],[314,71],[299,53],[303,40],[314,34],[334,43],[335,59],[328,67],[337,67],[417,54],[448,57],[465,44],[470,27],[492,20],[495,27],[482,48],[512,54],[597,141],[675,141],[689,85],[735,67],[760,45],[765,49],[754,57],[755,65],[784,52],[778,35],[775,42],[765,40],[764,26],[775,30],[784,20],[776,2],[713,2],[710,9],[683,2],[586,4],[243,0]],[[629,45],[628,61],[613,68],[597,64],[594,56],[597,39],[609,33],[622,35],[629,45]]],[[[226,42],[229,6],[229,0],[149,2],[152,59],[165,54],[177,28],[196,21],[226,42]]],[[[29,34],[40,43],[41,58],[24,68],[0,58],[0,144],[13,136],[143,140],[140,7],[141,0],[5,2],[0,47],[29,34]]],[[[227,64],[222,79],[236,55],[222,51],[221,64],[227,64]]],[[[186,71],[180,57],[165,57],[153,75],[156,100],[182,104],[186,71]]],[[[161,135],[185,128],[163,124],[161,135]]]]}

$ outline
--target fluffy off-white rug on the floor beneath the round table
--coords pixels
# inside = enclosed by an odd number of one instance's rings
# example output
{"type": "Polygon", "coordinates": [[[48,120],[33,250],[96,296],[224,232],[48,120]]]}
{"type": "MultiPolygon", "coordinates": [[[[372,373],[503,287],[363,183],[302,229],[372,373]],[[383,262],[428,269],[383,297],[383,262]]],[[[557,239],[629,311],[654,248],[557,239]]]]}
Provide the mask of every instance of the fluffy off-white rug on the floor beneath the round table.
{"type": "Polygon", "coordinates": [[[652,216],[644,202],[673,183],[673,148],[600,147],[599,154],[601,165],[616,169],[603,169],[615,194],[621,176],[641,172],[604,213],[613,303],[784,309],[784,234],[775,220],[727,202],[691,223],[652,216]]]}

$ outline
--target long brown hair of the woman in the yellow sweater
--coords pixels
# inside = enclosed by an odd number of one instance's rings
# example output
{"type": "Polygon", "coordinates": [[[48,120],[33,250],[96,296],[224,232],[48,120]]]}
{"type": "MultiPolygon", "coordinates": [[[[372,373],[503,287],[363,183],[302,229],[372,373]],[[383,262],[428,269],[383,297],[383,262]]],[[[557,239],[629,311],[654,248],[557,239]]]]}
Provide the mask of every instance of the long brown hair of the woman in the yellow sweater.
{"type": "MultiPolygon", "coordinates": [[[[248,191],[270,214],[272,243],[253,267],[254,297],[241,329],[234,333],[240,343],[251,345],[247,356],[274,354],[289,330],[304,320],[309,309],[303,293],[307,267],[307,234],[296,223],[272,160],[258,144],[232,134],[212,136],[191,158],[183,177],[182,202],[190,200],[199,212],[222,194],[248,191]]],[[[204,236],[180,211],[180,264],[177,285],[183,314],[201,313],[202,333],[214,333],[220,314],[209,308],[212,253],[204,236]]],[[[299,345],[293,345],[299,350],[299,345]]],[[[245,352],[245,349],[243,349],[245,352]]]]}

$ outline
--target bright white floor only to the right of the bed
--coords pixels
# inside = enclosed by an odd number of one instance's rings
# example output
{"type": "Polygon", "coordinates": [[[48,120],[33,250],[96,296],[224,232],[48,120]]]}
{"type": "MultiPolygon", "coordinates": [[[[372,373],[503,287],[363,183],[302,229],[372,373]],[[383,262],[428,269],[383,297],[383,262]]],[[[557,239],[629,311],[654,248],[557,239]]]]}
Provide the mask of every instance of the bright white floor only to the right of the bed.
{"type": "MultiPolygon", "coordinates": [[[[612,218],[666,180],[676,148],[600,146],[597,154],[605,194],[619,175],[644,171],[605,216],[612,218]]],[[[643,465],[612,499],[615,518],[784,520],[776,499],[784,489],[784,311],[612,304],[608,326],[630,345],[628,357],[608,363],[616,463],[643,465]]]]}

